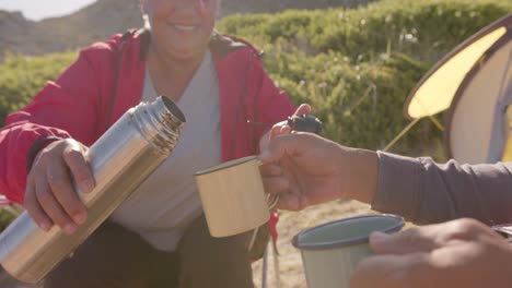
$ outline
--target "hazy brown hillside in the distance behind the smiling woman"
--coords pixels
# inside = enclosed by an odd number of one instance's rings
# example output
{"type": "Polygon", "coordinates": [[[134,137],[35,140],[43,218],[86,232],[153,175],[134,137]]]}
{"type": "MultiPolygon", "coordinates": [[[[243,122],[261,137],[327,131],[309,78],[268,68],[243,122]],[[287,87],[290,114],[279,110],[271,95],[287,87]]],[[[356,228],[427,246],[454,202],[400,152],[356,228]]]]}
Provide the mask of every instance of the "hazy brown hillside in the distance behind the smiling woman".
{"type": "MultiPolygon", "coordinates": [[[[221,16],[284,9],[354,7],[370,0],[223,0],[221,16]]],[[[67,16],[40,22],[0,11],[0,59],[5,51],[45,55],[83,47],[114,33],[142,25],[138,0],[98,0],[67,16]]]]}

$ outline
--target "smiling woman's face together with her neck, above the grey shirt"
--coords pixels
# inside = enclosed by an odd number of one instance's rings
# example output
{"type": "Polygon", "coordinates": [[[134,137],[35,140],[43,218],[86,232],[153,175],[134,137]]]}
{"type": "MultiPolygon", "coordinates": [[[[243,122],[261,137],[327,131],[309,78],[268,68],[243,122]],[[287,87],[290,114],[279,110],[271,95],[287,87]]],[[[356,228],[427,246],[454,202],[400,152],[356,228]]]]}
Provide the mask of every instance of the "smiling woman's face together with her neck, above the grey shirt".
{"type": "Polygon", "coordinates": [[[155,80],[159,76],[165,77],[166,80],[162,79],[163,81],[155,85],[161,84],[163,89],[161,92],[176,99],[208,49],[220,0],[189,2],[141,0],[140,2],[153,36],[148,55],[152,76],[155,80]],[[188,64],[174,65],[176,61],[186,61],[188,64]],[[170,82],[168,73],[175,73],[173,70],[177,67],[181,70],[178,74],[184,77],[170,82]]]}

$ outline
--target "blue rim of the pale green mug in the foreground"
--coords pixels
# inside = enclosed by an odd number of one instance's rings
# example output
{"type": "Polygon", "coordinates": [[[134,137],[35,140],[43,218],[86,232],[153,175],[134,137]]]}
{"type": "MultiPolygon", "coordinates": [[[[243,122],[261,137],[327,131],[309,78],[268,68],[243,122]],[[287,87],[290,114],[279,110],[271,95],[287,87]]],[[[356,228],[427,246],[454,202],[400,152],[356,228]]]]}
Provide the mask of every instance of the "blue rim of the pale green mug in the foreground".
{"type": "Polygon", "coordinates": [[[368,243],[368,236],[360,236],[360,237],[353,237],[353,238],[348,238],[348,239],[340,239],[336,241],[325,241],[321,243],[300,243],[299,238],[301,236],[305,236],[307,233],[314,232],[315,230],[322,229],[326,226],[339,224],[339,223],[347,223],[347,221],[353,221],[358,219],[368,219],[368,218],[391,218],[396,220],[394,225],[391,225],[389,227],[382,229],[382,230],[375,230],[380,232],[385,232],[385,233],[392,233],[392,232],[397,232],[399,231],[404,225],[405,220],[403,217],[394,214],[371,214],[371,215],[363,215],[363,216],[357,216],[357,217],[350,217],[350,218],[344,218],[326,224],[322,224],[318,226],[315,226],[313,228],[306,229],[301,231],[300,233],[295,235],[292,239],[292,244],[293,247],[301,249],[301,250],[327,250],[327,249],[335,249],[335,248],[341,248],[341,247],[347,247],[347,245],[354,245],[354,244],[362,244],[362,243],[368,243]]]}

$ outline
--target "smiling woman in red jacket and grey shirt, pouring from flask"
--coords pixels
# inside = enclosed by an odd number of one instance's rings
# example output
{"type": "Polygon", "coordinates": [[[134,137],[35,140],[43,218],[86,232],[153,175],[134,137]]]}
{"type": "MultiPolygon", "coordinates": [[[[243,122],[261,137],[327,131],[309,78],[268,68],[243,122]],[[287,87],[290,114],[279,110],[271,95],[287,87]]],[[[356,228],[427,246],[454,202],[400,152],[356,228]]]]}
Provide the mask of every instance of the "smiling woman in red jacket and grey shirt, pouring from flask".
{"type": "Polygon", "coordinates": [[[94,189],[85,153],[106,128],[159,96],[173,99],[187,118],[172,157],[49,273],[46,288],[253,287],[251,263],[264,254],[270,231],[276,236],[276,216],[255,238],[211,237],[194,175],[268,145],[268,128],[247,123],[282,123],[311,108],[294,112],[265,73],[259,51],[214,32],[219,4],[140,0],[144,29],[83,49],[0,130],[0,191],[23,203],[42,229],[73,235],[88,209],[70,176],[81,191],[94,189]]]}

